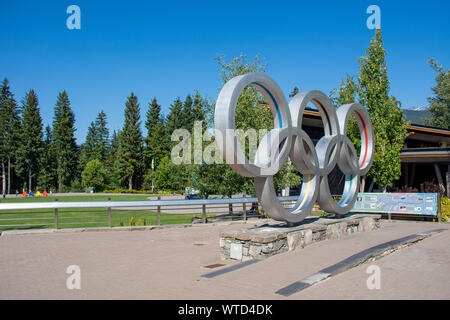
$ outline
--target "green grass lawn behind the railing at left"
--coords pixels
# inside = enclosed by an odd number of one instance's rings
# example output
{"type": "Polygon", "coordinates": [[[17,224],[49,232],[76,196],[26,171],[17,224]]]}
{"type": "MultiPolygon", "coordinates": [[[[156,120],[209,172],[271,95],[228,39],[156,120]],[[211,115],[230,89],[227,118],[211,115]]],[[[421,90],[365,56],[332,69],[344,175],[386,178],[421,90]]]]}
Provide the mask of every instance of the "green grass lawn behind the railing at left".
{"type": "MultiPolygon", "coordinates": [[[[133,201],[148,200],[149,195],[80,195],[48,197],[13,197],[1,199],[0,203],[52,202],[58,198],[67,201],[133,201]]],[[[191,223],[198,214],[176,215],[161,213],[161,224],[191,223]]],[[[111,212],[111,226],[157,225],[157,213],[149,210],[118,210],[111,212]]],[[[107,227],[106,208],[58,209],[58,228],[107,227]]],[[[45,229],[55,227],[53,209],[0,210],[0,230],[45,229]]]]}

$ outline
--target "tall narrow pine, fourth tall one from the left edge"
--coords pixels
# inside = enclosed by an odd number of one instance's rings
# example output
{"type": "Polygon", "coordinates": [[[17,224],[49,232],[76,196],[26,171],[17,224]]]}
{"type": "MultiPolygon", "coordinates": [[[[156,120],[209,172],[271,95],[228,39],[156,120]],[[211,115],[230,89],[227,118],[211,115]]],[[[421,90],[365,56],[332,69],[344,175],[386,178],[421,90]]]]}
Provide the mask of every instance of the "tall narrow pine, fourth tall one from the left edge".
{"type": "Polygon", "coordinates": [[[143,138],[140,129],[140,108],[132,92],[125,103],[125,123],[120,134],[119,174],[128,189],[137,188],[137,177],[142,173],[143,138]]]}

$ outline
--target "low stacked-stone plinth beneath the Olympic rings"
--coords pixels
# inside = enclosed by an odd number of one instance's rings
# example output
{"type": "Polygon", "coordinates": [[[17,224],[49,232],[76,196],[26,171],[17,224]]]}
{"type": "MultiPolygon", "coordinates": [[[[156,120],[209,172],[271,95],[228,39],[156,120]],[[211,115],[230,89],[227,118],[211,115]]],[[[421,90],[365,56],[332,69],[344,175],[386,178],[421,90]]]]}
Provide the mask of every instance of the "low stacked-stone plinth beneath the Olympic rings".
{"type": "Polygon", "coordinates": [[[220,234],[220,255],[223,260],[264,259],[313,242],[378,229],[380,219],[381,215],[376,214],[349,214],[341,218],[309,217],[295,226],[279,223],[227,231],[220,234]]]}

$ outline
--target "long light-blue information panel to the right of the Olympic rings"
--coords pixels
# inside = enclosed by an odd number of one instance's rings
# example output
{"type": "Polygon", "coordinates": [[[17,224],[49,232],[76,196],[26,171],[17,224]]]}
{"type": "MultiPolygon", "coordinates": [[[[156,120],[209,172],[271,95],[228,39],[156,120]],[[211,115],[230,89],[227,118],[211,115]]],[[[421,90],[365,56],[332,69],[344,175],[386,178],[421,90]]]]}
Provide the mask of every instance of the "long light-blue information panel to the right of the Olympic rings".
{"type": "Polygon", "coordinates": [[[350,212],[437,214],[436,193],[358,193],[350,212]]]}

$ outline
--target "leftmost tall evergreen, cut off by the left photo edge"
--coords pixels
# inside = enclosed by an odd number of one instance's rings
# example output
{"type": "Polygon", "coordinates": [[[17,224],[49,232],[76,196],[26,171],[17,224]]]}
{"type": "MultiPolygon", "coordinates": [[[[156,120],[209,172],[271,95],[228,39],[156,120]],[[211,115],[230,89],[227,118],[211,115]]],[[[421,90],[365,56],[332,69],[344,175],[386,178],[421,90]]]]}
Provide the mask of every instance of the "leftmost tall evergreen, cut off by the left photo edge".
{"type": "Polygon", "coordinates": [[[20,132],[20,112],[9,81],[5,78],[0,87],[0,157],[2,166],[2,193],[10,193],[12,183],[11,167],[14,162],[20,132]],[[6,184],[7,166],[8,183],[6,184]]]}

